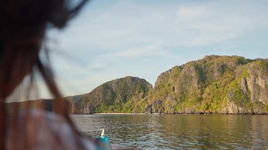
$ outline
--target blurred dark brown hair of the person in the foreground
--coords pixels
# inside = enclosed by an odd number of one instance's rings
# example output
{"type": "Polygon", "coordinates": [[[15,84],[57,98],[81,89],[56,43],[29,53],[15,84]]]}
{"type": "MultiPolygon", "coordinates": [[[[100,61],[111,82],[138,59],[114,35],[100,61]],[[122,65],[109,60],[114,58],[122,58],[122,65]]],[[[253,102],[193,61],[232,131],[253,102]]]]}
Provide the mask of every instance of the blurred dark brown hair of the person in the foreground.
{"type": "Polygon", "coordinates": [[[26,75],[33,75],[33,68],[43,76],[56,99],[54,112],[63,115],[76,131],[68,116],[67,102],[62,99],[50,67],[40,60],[39,51],[46,31],[64,28],[87,1],[80,0],[76,5],[72,0],[0,2],[0,150],[5,140],[5,99],[26,75]]]}

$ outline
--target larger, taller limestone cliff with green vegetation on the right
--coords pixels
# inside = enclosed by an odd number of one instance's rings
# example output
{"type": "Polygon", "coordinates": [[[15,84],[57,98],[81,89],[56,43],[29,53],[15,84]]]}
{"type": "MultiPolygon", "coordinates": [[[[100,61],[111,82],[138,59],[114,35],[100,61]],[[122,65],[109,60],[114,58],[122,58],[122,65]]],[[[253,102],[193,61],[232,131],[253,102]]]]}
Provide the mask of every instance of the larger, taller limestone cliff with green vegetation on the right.
{"type": "Polygon", "coordinates": [[[148,113],[268,113],[268,60],[205,56],[159,75],[145,101],[148,113]]]}

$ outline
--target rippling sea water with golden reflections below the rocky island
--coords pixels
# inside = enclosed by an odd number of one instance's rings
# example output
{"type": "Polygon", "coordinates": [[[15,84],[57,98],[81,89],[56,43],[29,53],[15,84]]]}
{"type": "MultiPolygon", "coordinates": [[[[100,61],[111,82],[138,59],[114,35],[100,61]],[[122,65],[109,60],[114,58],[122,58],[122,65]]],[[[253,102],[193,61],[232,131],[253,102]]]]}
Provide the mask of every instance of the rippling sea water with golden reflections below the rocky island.
{"type": "Polygon", "coordinates": [[[268,149],[268,115],[72,115],[86,135],[142,150],[268,149]]]}

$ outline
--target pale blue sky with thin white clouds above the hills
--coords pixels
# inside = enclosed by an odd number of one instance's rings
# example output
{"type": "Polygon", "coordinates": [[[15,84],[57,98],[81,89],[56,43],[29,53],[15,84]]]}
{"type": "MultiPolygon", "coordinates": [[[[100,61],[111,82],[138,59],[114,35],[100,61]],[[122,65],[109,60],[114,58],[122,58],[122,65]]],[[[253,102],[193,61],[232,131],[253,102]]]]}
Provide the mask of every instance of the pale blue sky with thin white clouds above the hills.
{"type": "Polygon", "coordinates": [[[92,0],[64,30],[50,30],[47,45],[70,96],[127,75],[154,85],[205,55],[268,58],[267,18],[267,0],[92,0]]]}

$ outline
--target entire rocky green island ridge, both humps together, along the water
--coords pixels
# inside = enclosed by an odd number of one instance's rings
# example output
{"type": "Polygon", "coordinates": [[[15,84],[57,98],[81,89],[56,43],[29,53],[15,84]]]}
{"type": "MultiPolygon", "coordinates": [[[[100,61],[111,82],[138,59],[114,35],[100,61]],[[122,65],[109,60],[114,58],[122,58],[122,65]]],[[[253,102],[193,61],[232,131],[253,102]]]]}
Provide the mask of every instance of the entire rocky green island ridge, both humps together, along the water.
{"type": "Polygon", "coordinates": [[[127,76],[67,98],[72,113],[268,113],[268,59],[205,56],[162,73],[127,76]]]}

